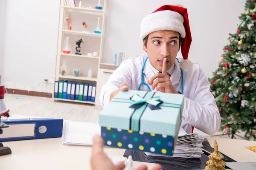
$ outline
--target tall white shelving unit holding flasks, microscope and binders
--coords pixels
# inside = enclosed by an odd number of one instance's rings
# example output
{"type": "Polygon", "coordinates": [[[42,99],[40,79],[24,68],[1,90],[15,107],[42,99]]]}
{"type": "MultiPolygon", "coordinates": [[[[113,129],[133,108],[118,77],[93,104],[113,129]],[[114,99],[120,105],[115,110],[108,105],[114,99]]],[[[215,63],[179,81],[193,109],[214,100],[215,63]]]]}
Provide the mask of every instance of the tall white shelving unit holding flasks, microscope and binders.
{"type": "MultiPolygon", "coordinates": [[[[85,4],[86,6],[88,0],[82,0],[82,3],[85,4]]],[[[65,6],[63,0],[60,0],[60,9],[59,9],[59,21],[58,21],[58,40],[57,40],[57,49],[56,49],[56,58],[55,58],[55,76],[54,76],[54,81],[58,80],[68,80],[68,81],[75,81],[75,82],[93,82],[94,84],[97,83],[97,75],[99,72],[99,67],[100,63],[102,61],[102,51],[103,51],[103,43],[104,43],[104,32],[105,32],[105,20],[106,20],[106,9],[107,9],[107,0],[101,0],[101,5],[103,7],[102,10],[99,9],[91,9],[91,8],[85,8],[84,6],[78,7],[79,1],[75,1],[77,7],[72,7],[72,6],[65,6]],[[72,23],[72,29],[68,30],[65,26],[65,19],[67,15],[73,16],[71,18],[71,23],[72,23]],[[76,16],[76,17],[74,17],[76,16]],[[92,18],[97,18],[100,17],[100,29],[101,29],[101,34],[96,34],[92,30],[93,26],[97,26],[98,20],[94,20],[92,22],[92,18]],[[91,28],[89,31],[82,31],[82,25],[73,25],[73,21],[76,20],[74,23],[82,23],[85,21],[87,23],[87,20],[90,21],[91,28]],[[77,22],[78,21],[78,22],[77,22]],[[81,49],[82,55],[75,54],[75,49],[72,48],[70,54],[65,54],[63,53],[63,48],[64,48],[64,43],[65,43],[65,37],[69,37],[70,39],[73,38],[73,40],[79,40],[82,38],[83,41],[88,41],[86,42],[86,45],[92,44],[93,49],[98,47],[98,53],[97,57],[94,56],[88,56],[87,53],[93,53],[94,51],[86,51],[81,49]],[[77,38],[79,37],[79,38],[77,38]],[[97,45],[96,42],[99,42],[97,45]],[[63,68],[64,66],[64,60],[67,60],[65,62],[65,67],[64,68],[67,71],[66,74],[61,75],[61,67],[63,68]],[[77,67],[75,68],[72,66],[74,63],[78,63],[77,67]],[[85,66],[83,66],[83,63],[85,66]],[[71,65],[71,66],[70,66],[71,65]],[[87,77],[87,70],[89,70],[91,67],[93,67],[93,77],[88,78],[87,77]],[[84,69],[84,71],[80,74],[79,71],[79,77],[75,77],[72,72],[73,69],[84,69]]],[[[91,4],[95,3],[95,6],[98,3],[98,0],[91,0],[91,4]]],[[[94,7],[95,7],[94,6],[94,7]]],[[[88,25],[88,28],[90,27],[88,25]]],[[[87,28],[87,30],[88,30],[87,28]]],[[[75,45],[75,42],[72,41],[72,44],[75,45]]],[[[81,44],[81,48],[84,44],[81,44]]],[[[84,45],[85,46],[85,45],[84,45]]],[[[96,87],[97,88],[97,87],[96,87]]],[[[62,99],[62,98],[54,98],[54,91],[55,87],[53,87],[53,93],[52,93],[52,98],[54,100],[61,100],[61,101],[67,101],[67,102],[79,102],[79,103],[88,103],[88,104],[93,104],[95,105],[95,102],[88,102],[88,101],[80,101],[80,100],[70,100],[70,99],[62,99]]],[[[95,97],[95,101],[99,100],[98,96],[95,97]]]]}

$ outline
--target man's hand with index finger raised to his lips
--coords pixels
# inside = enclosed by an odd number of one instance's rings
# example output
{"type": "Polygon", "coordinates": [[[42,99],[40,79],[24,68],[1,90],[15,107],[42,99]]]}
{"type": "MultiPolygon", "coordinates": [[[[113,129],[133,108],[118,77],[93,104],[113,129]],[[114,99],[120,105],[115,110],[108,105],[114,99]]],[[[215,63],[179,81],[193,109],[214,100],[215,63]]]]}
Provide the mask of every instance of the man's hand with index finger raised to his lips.
{"type": "Polygon", "coordinates": [[[151,79],[147,81],[147,83],[152,86],[152,90],[156,88],[157,91],[160,91],[162,93],[179,94],[173,87],[170,77],[167,75],[166,60],[167,58],[163,59],[162,73],[155,74],[151,77],[151,79]]]}

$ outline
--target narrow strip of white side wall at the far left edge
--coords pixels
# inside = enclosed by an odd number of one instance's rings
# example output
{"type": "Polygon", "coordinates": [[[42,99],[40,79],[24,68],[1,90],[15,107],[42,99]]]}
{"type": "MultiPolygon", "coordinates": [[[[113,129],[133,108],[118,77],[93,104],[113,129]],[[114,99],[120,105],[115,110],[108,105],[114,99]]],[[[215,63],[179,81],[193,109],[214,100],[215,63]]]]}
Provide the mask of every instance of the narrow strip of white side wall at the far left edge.
{"type": "MultiPolygon", "coordinates": [[[[3,75],[3,51],[5,35],[6,0],[0,0],[0,76],[3,75]]],[[[0,80],[1,83],[1,80],[0,80]]]]}

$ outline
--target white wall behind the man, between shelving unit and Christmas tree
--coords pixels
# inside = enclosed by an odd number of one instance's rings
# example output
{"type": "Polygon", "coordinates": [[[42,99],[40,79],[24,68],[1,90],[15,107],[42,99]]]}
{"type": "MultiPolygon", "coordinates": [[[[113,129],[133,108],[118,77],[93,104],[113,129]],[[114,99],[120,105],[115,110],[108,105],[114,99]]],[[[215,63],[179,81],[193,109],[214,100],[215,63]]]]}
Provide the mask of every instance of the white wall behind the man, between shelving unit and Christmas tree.
{"type": "Polygon", "coordinates": [[[145,53],[140,21],[165,4],[188,8],[192,34],[189,59],[202,65],[211,77],[227,45],[228,33],[235,33],[240,23],[238,16],[244,11],[245,0],[109,0],[103,62],[114,63],[114,54],[119,52],[125,52],[126,59],[145,53]]]}

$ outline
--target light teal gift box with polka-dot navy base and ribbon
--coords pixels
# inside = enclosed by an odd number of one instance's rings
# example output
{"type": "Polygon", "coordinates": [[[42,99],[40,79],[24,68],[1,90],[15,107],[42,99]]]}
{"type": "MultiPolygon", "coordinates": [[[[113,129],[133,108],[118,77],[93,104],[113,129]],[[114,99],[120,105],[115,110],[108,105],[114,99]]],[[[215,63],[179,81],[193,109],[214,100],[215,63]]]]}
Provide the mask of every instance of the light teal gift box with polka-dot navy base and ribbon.
{"type": "Polygon", "coordinates": [[[99,114],[105,145],[172,156],[183,102],[182,94],[120,91],[99,114]]]}

